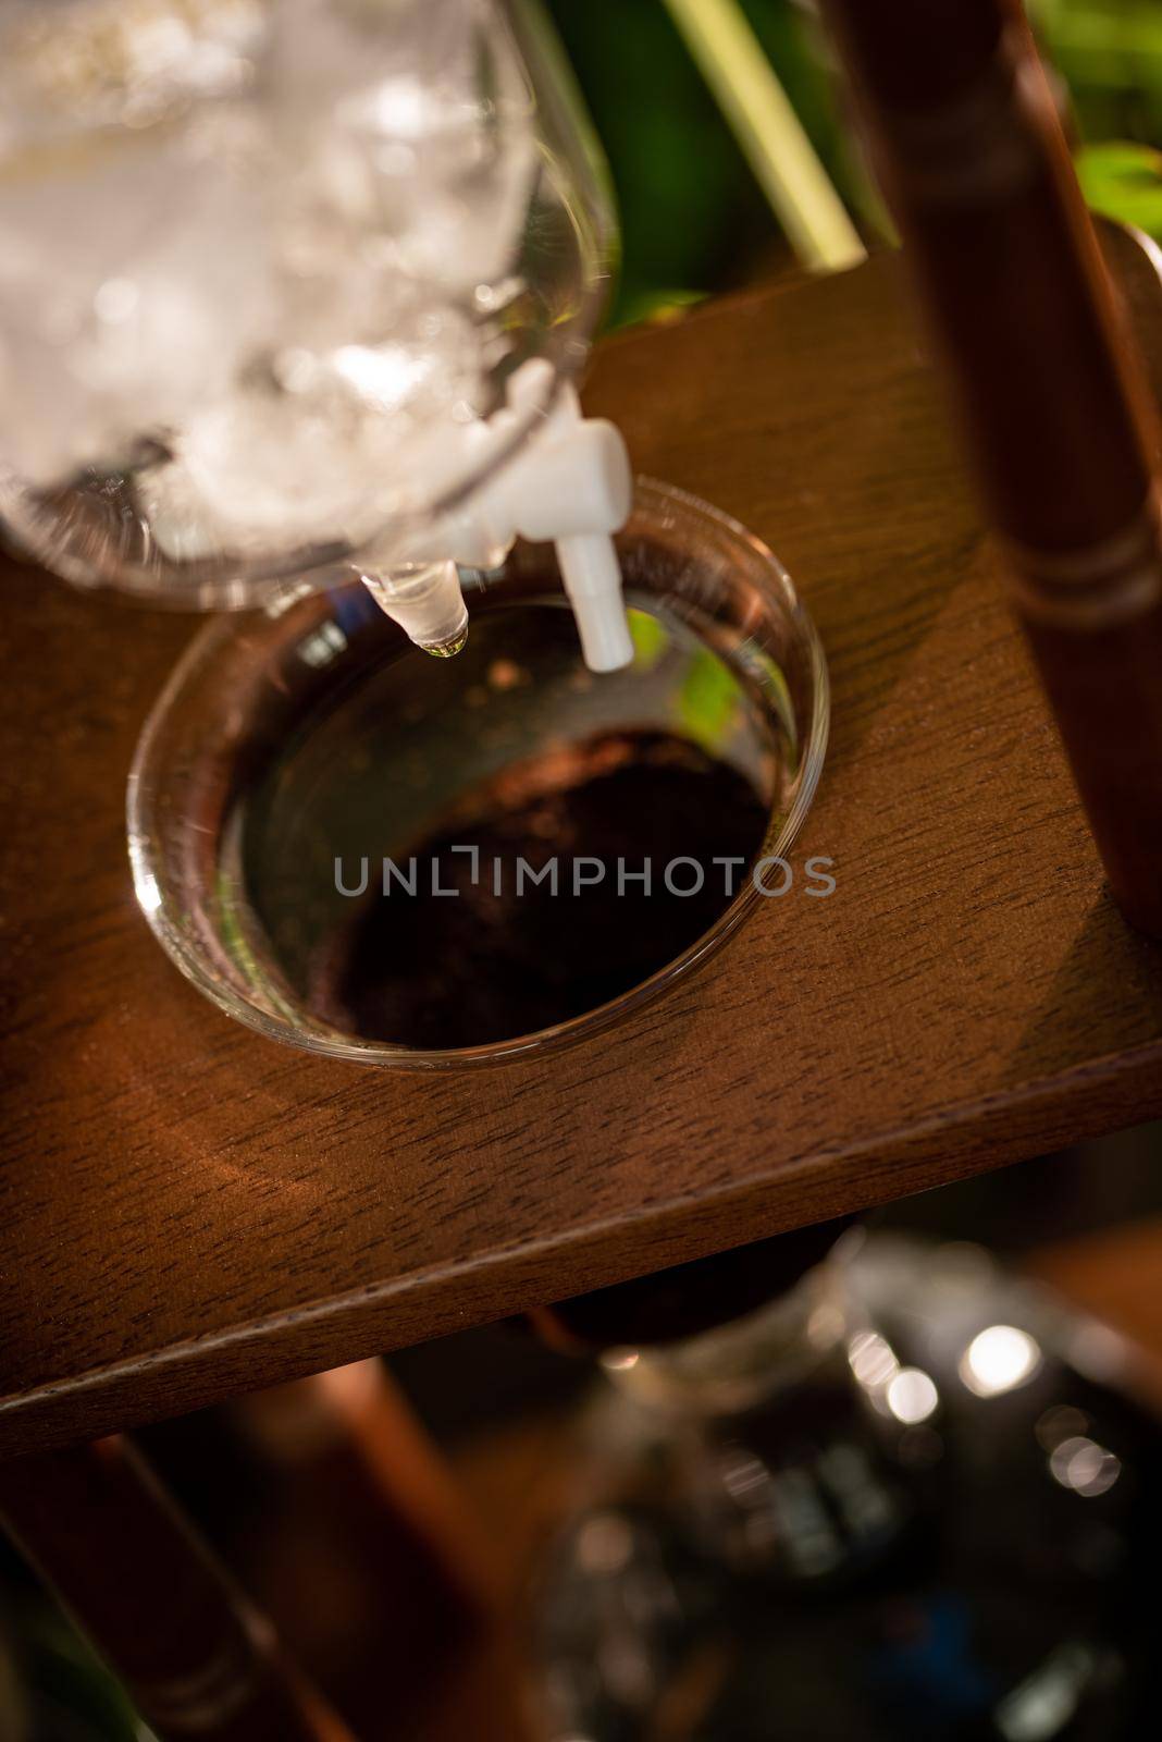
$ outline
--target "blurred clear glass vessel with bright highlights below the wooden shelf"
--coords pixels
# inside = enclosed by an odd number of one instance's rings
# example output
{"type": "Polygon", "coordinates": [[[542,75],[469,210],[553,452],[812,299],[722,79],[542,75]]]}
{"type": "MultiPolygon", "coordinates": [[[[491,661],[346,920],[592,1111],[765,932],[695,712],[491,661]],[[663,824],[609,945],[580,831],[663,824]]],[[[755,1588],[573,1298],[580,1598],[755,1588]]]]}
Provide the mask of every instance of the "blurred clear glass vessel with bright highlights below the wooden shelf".
{"type": "Polygon", "coordinates": [[[605,1357],[536,1590],[548,1735],[1157,1732],[1132,1352],[979,1249],[861,1239],[758,1313],[605,1357]]]}

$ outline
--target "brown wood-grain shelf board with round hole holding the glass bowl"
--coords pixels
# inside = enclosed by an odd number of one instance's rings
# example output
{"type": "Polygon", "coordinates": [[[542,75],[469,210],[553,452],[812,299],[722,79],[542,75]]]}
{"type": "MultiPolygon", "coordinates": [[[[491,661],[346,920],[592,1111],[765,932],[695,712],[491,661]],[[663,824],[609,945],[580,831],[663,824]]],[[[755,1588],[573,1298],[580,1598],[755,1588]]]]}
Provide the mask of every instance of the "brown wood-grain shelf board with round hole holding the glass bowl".
{"type": "Polygon", "coordinates": [[[9,573],[0,1455],[1162,1111],[1162,951],[1103,888],[898,263],[619,338],[588,404],[797,577],[835,686],[800,852],[837,894],[546,1063],[284,1050],[134,909],[124,779],[190,624],[9,573]]]}

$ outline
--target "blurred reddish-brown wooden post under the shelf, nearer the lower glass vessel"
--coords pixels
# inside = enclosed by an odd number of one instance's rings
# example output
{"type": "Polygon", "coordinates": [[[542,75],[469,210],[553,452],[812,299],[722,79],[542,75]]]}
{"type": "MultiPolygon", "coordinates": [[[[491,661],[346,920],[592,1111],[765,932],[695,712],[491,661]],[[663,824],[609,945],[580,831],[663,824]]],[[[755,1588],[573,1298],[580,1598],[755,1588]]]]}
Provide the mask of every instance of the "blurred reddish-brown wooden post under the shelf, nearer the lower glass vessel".
{"type": "Polygon", "coordinates": [[[451,1679],[487,1688],[473,1742],[531,1735],[487,1533],[384,1364],[259,1392],[233,1418],[261,1470],[235,1542],[247,1589],[360,1742],[414,1735],[451,1679]]]}

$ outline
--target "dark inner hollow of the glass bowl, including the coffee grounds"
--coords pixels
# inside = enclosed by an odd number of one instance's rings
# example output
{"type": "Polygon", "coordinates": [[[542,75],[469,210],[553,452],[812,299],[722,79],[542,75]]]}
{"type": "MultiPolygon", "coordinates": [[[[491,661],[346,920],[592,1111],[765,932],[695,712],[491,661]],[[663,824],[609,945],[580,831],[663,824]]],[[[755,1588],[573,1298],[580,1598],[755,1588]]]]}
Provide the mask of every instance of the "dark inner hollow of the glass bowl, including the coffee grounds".
{"type": "Polygon", "coordinates": [[[623,996],[720,920],[793,768],[750,643],[734,660],[633,608],[633,664],[597,678],[560,603],[478,608],[454,660],[339,603],[264,693],[223,847],[231,948],[284,1007],[487,1047],[623,996]]]}

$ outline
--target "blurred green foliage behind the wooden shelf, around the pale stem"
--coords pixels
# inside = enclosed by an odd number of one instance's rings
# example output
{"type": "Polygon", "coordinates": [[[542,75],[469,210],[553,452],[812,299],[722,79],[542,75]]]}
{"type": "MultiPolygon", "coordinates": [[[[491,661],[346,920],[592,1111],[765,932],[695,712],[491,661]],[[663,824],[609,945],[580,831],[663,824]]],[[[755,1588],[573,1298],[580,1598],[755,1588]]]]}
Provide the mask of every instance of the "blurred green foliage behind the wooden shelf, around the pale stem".
{"type": "MultiPolygon", "coordinates": [[[[661,0],[548,0],[612,167],[623,226],[611,324],[790,263],[731,129],[661,0]]],[[[741,0],[828,174],[887,226],[811,0],[741,0]]],[[[1162,0],[1028,0],[1070,91],[1091,204],[1162,239],[1162,0]],[[1136,148],[1136,150],[1134,150],[1136,148]]]]}

